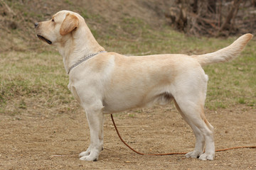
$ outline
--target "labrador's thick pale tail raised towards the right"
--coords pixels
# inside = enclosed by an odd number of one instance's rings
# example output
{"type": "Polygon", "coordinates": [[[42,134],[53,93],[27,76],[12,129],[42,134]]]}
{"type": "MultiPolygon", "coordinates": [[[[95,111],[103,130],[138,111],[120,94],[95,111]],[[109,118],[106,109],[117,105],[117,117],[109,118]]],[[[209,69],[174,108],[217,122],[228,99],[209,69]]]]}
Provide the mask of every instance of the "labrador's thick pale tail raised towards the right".
{"type": "Polygon", "coordinates": [[[201,66],[205,66],[215,62],[228,62],[237,57],[240,52],[244,49],[247,42],[252,39],[253,35],[247,33],[245,35],[240,36],[238,40],[235,40],[231,45],[225,47],[216,52],[211,52],[205,55],[192,55],[191,57],[198,60],[201,66]]]}

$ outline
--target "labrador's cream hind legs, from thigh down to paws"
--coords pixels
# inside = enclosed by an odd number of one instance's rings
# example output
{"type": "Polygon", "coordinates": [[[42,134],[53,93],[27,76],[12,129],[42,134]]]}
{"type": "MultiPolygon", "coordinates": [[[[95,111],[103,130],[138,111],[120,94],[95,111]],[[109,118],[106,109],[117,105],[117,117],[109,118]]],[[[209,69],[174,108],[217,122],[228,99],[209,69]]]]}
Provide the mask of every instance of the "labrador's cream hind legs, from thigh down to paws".
{"type": "Polygon", "coordinates": [[[175,84],[174,102],[182,117],[191,126],[196,136],[196,146],[186,157],[199,157],[201,160],[213,160],[215,145],[213,140],[213,126],[208,123],[204,115],[204,103],[208,76],[203,69],[182,74],[180,81],[175,84]],[[189,77],[189,79],[188,79],[189,77]],[[203,147],[205,153],[203,153],[203,147]]]}

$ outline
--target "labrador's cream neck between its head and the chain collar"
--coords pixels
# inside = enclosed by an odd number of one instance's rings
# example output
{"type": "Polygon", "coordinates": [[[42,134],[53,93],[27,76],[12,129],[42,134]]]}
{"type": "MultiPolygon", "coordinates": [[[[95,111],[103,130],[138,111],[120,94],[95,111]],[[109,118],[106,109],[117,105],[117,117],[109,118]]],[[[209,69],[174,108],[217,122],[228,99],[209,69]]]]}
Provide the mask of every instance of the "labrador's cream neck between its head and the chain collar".
{"type": "Polygon", "coordinates": [[[70,67],[83,57],[105,51],[95,40],[86,23],[82,24],[83,26],[80,26],[78,30],[63,37],[63,40],[57,45],[60,55],[63,56],[63,63],[67,74],[70,67]]]}

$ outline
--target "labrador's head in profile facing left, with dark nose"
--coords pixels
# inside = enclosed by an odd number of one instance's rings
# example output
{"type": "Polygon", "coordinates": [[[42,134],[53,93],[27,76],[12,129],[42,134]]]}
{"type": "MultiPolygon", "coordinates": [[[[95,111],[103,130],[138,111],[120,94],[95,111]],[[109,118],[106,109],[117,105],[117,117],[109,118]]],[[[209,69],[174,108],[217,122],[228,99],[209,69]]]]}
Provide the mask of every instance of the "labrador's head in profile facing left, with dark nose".
{"type": "Polygon", "coordinates": [[[35,23],[36,35],[50,45],[62,42],[65,36],[74,33],[82,17],[71,11],[59,11],[49,21],[35,23]]]}

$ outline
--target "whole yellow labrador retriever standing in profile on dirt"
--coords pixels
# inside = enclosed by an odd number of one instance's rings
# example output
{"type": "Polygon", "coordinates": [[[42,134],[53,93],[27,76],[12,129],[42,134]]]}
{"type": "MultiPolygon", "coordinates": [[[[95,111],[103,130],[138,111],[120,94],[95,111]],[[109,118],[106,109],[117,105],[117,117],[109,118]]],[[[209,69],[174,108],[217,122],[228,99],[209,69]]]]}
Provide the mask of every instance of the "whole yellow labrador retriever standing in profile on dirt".
{"type": "Polygon", "coordinates": [[[69,75],[68,89],[85,109],[90,146],[81,160],[97,161],[103,147],[104,114],[131,108],[169,104],[172,100],[196,135],[196,147],[186,157],[213,160],[213,126],[204,115],[208,76],[202,66],[238,56],[251,34],[205,55],[147,55],[127,57],[105,52],[84,18],[59,11],[49,21],[35,23],[38,38],[55,45],[69,75]],[[205,152],[203,149],[205,147],[205,152]]]}

